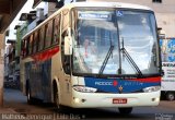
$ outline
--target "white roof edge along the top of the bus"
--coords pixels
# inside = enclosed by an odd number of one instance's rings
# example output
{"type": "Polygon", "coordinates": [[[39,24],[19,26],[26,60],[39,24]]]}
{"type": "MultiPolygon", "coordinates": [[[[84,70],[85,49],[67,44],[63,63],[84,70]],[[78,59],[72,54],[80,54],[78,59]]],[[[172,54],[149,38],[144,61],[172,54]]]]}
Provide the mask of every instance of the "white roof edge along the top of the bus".
{"type": "MultiPolygon", "coordinates": [[[[125,9],[138,9],[138,10],[150,10],[151,8],[145,5],[139,5],[139,4],[132,4],[132,3],[121,3],[121,2],[97,2],[97,1],[86,1],[86,2],[72,2],[63,5],[61,9],[56,11],[54,14],[51,14],[49,17],[47,17],[43,23],[40,23],[38,26],[36,26],[34,29],[28,32],[26,35],[23,36],[23,38],[27,37],[31,33],[33,33],[35,29],[44,25],[47,21],[51,20],[55,15],[57,15],[61,10],[63,9],[72,9],[77,7],[92,7],[92,8],[125,8],[125,9]]],[[[22,39],[23,39],[22,38],[22,39]]]]}

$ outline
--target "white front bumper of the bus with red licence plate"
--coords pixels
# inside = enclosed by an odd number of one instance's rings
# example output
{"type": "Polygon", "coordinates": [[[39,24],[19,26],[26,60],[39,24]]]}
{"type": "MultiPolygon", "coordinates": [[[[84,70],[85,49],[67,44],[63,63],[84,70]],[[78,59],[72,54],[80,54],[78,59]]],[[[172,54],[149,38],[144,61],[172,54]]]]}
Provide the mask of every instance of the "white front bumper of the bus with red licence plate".
{"type": "Polygon", "coordinates": [[[71,107],[98,108],[98,107],[137,107],[158,106],[160,91],[152,93],[106,94],[106,93],[80,93],[73,91],[71,107]]]}

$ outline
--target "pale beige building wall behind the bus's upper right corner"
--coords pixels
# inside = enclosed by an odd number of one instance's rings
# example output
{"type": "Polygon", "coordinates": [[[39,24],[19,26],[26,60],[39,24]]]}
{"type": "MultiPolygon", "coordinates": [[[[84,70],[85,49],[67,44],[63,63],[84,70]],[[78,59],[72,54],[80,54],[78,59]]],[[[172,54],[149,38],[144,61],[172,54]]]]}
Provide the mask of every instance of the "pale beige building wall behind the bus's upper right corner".
{"type": "MultiPolygon", "coordinates": [[[[88,0],[106,1],[106,0],[88,0]]],[[[126,2],[148,5],[155,12],[158,27],[162,27],[166,37],[175,37],[175,0],[162,0],[162,3],[153,0],[109,0],[112,2],[126,2]]]]}

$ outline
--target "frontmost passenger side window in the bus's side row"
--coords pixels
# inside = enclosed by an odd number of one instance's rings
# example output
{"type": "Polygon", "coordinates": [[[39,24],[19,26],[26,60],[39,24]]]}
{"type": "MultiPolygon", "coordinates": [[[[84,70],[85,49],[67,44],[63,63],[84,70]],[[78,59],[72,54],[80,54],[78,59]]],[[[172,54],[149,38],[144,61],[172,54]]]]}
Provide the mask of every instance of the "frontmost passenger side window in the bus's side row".
{"type": "Polygon", "coordinates": [[[54,38],[52,45],[58,44],[60,39],[60,15],[57,15],[54,20],[54,38]]]}

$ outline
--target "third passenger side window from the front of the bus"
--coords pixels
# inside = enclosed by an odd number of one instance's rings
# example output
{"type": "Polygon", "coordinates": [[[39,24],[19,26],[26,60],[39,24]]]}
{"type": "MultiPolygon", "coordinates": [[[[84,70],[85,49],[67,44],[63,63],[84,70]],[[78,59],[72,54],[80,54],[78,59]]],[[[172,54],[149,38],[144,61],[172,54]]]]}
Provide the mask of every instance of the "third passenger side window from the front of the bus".
{"type": "Polygon", "coordinates": [[[45,27],[39,29],[39,48],[38,50],[43,50],[45,46],[45,27]]]}

